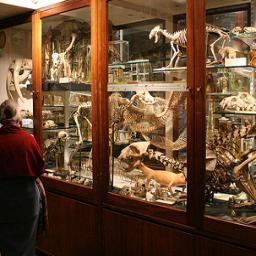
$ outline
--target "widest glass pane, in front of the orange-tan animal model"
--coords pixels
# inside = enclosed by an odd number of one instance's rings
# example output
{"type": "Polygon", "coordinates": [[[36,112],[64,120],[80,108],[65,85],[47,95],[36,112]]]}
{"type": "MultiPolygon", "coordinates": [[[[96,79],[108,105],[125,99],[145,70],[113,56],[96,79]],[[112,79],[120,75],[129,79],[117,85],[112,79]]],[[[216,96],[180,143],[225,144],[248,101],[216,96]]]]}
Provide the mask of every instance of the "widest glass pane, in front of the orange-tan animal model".
{"type": "Polygon", "coordinates": [[[185,1],[109,2],[110,190],[186,208],[185,1]]]}

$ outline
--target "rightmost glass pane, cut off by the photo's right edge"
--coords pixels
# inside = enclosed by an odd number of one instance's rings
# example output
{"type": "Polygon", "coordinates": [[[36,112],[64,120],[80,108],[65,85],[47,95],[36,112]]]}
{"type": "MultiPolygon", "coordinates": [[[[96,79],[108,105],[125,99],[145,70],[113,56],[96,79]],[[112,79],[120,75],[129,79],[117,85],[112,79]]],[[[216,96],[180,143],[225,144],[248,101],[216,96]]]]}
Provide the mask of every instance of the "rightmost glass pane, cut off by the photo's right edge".
{"type": "MultiPolygon", "coordinates": [[[[212,7],[221,6],[207,1],[207,8],[212,7]]],[[[206,26],[205,211],[255,224],[256,28],[248,24],[249,15],[246,7],[225,7],[206,19],[211,24],[206,26]]]]}

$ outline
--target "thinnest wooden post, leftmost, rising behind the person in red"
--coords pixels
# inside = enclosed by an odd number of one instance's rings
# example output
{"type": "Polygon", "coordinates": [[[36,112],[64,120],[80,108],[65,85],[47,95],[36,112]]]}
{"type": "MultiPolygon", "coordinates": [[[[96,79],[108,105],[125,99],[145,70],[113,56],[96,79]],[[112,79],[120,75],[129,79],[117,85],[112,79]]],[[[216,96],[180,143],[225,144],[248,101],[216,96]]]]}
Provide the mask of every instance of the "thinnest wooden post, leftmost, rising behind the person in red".
{"type": "Polygon", "coordinates": [[[32,83],[33,83],[33,112],[34,112],[34,135],[40,146],[42,146],[42,22],[40,13],[32,15],[32,83]]]}

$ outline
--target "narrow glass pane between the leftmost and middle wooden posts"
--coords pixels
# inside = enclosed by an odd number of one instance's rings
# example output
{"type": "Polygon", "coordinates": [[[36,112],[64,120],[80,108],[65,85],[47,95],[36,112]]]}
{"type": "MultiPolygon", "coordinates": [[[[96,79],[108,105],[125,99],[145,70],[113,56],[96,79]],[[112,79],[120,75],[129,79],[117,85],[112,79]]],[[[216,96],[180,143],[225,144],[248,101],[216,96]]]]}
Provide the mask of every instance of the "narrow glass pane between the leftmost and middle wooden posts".
{"type": "Polygon", "coordinates": [[[42,45],[46,173],[91,187],[90,8],[44,19],[42,45]]]}

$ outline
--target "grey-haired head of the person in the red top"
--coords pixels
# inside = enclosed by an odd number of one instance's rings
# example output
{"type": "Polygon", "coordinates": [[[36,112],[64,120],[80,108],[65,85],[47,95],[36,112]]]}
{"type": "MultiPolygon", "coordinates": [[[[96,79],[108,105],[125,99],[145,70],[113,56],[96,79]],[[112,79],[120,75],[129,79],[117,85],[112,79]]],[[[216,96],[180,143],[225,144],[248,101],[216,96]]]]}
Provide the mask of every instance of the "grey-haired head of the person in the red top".
{"type": "Polygon", "coordinates": [[[13,100],[5,100],[0,105],[0,123],[19,125],[20,121],[18,104],[13,100]]]}

